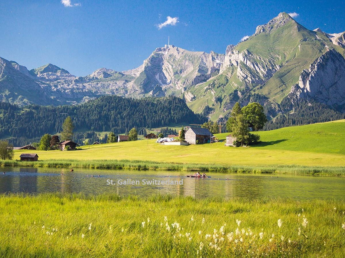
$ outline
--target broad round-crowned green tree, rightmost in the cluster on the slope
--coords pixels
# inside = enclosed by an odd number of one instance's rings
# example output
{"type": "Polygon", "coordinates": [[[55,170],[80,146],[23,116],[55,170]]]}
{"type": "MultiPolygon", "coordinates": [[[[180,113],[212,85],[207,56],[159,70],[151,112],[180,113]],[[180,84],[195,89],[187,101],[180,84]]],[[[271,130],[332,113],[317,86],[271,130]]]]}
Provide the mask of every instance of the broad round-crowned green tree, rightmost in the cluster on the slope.
{"type": "Polygon", "coordinates": [[[262,129],[267,122],[264,108],[259,103],[249,103],[247,106],[242,108],[242,114],[251,123],[255,130],[262,129]]]}

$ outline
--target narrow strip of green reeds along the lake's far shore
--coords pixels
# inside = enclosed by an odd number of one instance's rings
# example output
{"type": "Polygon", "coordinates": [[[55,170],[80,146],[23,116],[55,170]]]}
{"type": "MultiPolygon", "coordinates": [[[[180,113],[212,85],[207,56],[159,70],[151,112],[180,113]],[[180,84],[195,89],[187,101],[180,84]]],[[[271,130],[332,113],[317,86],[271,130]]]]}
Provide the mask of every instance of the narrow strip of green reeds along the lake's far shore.
{"type": "Polygon", "coordinates": [[[0,166],[43,167],[43,168],[85,168],[111,170],[164,170],[186,172],[219,172],[219,173],[259,173],[259,174],[292,174],[345,176],[344,167],[302,166],[302,165],[221,165],[178,162],[156,162],[146,160],[43,160],[23,162],[18,160],[0,160],[0,166]]]}

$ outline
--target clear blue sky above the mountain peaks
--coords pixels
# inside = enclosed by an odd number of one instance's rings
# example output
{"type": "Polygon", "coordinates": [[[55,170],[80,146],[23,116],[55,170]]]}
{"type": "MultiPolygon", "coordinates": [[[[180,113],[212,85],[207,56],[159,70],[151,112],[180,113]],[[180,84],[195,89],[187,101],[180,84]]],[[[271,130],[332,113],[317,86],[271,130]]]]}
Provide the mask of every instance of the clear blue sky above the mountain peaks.
{"type": "Polygon", "coordinates": [[[168,36],[183,49],[225,53],[282,11],[296,13],[307,29],[343,32],[344,9],[344,0],[3,0],[0,56],[28,69],[52,63],[76,76],[101,67],[124,71],[141,65],[168,36]]]}

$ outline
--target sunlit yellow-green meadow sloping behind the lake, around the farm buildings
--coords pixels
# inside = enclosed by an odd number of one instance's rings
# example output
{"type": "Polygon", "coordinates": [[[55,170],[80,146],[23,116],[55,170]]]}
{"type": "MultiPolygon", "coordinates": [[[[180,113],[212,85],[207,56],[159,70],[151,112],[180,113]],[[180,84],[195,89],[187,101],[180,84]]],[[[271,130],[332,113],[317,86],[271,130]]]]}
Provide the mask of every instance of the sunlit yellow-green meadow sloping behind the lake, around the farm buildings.
{"type": "MultiPolygon", "coordinates": [[[[40,161],[48,163],[90,161],[94,163],[111,163],[114,160],[194,164],[199,166],[249,166],[262,170],[265,168],[301,167],[320,171],[331,168],[344,173],[345,166],[345,121],[318,123],[314,125],[282,128],[273,131],[257,132],[262,143],[251,147],[224,147],[228,133],[216,135],[223,142],[190,146],[164,146],[155,140],[139,140],[84,146],[79,151],[34,151],[40,161]],[[321,169],[322,170],[322,169],[321,169]]],[[[19,160],[23,152],[16,151],[14,159],[19,160]]],[[[91,163],[92,163],[91,162],[91,163]]],[[[2,162],[2,165],[11,163],[2,162]]],[[[17,165],[18,163],[12,165],[17,165]]],[[[39,163],[36,163],[39,165],[39,163]]],[[[114,165],[116,168],[116,165],[114,165]]],[[[135,166],[135,165],[134,165],[135,166]]],[[[92,167],[90,165],[89,167],[92,167]]],[[[185,166],[186,167],[186,166],[185,166]]],[[[112,168],[112,167],[110,167],[112,168]]]]}

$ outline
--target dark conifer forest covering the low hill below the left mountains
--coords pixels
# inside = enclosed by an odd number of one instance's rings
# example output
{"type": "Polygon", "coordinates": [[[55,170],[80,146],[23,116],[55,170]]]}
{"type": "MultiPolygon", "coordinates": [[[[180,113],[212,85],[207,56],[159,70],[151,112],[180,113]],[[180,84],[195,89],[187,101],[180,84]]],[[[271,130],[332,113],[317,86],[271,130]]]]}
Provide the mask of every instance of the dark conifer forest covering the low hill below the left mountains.
{"type": "MultiPolygon", "coordinates": [[[[102,96],[75,106],[18,107],[0,102],[0,139],[7,138],[14,146],[38,142],[46,133],[62,130],[62,123],[70,116],[75,126],[73,141],[80,142],[85,131],[111,131],[115,135],[136,128],[162,127],[177,123],[203,123],[207,119],[194,114],[183,99],[169,96],[162,98],[124,98],[102,96]]],[[[83,137],[85,138],[85,137],[83,137]]],[[[60,139],[65,140],[65,139],[60,139]]]]}

